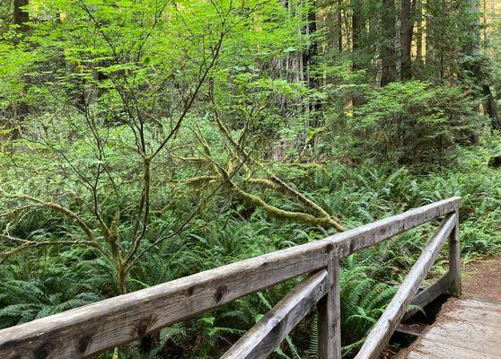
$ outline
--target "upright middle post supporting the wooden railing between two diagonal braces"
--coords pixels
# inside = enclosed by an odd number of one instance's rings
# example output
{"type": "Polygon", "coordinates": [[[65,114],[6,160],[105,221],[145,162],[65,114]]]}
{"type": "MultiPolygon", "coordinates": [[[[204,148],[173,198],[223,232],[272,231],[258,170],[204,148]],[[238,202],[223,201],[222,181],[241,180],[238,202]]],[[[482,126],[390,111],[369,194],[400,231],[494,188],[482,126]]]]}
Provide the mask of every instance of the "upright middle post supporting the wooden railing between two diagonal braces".
{"type": "Polygon", "coordinates": [[[317,304],[319,328],[319,358],[341,359],[341,305],[339,297],[338,248],[327,266],[329,291],[317,304]]]}

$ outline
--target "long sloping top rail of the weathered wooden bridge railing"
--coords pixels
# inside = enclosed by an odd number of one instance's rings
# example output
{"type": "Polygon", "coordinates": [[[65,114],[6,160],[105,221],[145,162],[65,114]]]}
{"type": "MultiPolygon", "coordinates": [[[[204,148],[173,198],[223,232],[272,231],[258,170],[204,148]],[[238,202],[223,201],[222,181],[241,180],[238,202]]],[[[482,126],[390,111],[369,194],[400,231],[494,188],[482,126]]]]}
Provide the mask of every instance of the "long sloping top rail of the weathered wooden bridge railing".
{"type": "Polygon", "coordinates": [[[0,357],[84,358],[187,320],[294,276],[327,267],[335,248],[344,258],[395,234],[455,211],[460,197],[411,209],[321,241],[120,295],[0,330],[0,357]]]}

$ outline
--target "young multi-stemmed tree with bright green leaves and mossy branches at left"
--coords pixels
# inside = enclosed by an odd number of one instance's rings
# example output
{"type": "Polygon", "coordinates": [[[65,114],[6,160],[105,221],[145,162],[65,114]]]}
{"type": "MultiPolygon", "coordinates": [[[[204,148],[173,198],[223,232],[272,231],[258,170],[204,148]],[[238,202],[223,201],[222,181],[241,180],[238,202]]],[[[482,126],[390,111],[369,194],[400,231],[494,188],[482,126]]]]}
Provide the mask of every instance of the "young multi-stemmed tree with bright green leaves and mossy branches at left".
{"type": "MultiPolygon", "coordinates": [[[[4,187],[2,197],[14,208],[4,216],[18,220],[33,210],[52,211],[74,222],[83,237],[28,240],[16,238],[8,225],[3,238],[19,246],[3,256],[41,246],[89,246],[112,263],[118,293],[127,293],[136,261],[174,235],[149,238],[152,211],[169,200],[162,173],[171,171],[163,163],[169,162],[174,139],[215,71],[224,42],[246,29],[249,13],[259,11],[260,3],[244,8],[232,1],[188,0],[181,6],[60,0],[53,6],[52,13],[65,13],[66,19],[36,24],[22,46],[50,59],[33,63],[32,73],[39,74],[33,76],[32,91],[45,96],[54,115],[25,124],[9,155],[22,157],[34,146],[39,157],[31,153],[31,162],[14,165],[13,173],[30,176],[41,167],[61,182],[29,195],[4,187]],[[52,164],[45,168],[47,159],[52,164]],[[127,189],[121,186],[129,181],[127,189]],[[115,198],[114,206],[105,204],[108,197],[115,198]],[[75,198],[84,206],[71,208],[75,198]]],[[[181,217],[172,232],[192,216],[181,217]]]]}

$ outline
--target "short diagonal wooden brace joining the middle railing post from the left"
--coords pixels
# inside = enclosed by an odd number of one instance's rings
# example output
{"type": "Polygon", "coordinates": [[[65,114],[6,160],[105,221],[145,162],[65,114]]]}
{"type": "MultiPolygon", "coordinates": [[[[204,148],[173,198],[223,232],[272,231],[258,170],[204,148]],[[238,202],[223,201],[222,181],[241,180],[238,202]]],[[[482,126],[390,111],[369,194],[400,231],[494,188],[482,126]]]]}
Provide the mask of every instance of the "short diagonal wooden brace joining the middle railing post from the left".
{"type": "Polygon", "coordinates": [[[304,279],[242,336],[221,359],[266,358],[330,289],[325,269],[304,279]]]}

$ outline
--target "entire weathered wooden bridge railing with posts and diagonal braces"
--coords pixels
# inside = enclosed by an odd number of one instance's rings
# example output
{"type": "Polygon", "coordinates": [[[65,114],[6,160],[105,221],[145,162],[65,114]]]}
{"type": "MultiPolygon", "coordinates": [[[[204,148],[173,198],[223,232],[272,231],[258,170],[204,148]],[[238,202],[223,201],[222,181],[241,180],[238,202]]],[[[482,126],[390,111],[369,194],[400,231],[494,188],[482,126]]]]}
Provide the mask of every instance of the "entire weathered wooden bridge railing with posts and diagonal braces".
{"type": "Polygon", "coordinates": [[[341,356],[339,259],[444,216],[435,235],[428,241],[417,263],[356,355],[357,359],[376,358],[400,320],[413,314],[408,309],[409,304],[424,306],[446,291],[459,295],[460,204],[460,197],[452,197],[321,241],[278,250],[2,329],[0,358],[91,357],[244,295],[278,285],[295,276],[310,274],[241,337],[223,358],[266,357],[316,305],[319,312],[319,356],[321,359],[338,359],[341,356]],[[450,244],[449,271],[435,284],[418,292],[447,239],[450,244]]]}

